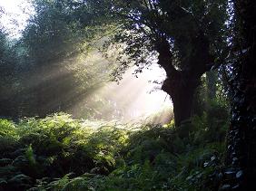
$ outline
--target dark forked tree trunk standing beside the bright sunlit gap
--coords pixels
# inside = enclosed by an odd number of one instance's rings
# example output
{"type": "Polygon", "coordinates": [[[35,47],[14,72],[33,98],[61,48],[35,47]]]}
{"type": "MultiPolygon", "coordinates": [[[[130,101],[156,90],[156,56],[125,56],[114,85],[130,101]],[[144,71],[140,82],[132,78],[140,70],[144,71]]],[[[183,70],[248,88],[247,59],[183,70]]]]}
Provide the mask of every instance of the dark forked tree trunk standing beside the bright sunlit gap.
{"type": "Polygon", "coordinates": [[[194,37],[193,41],[192,56],[182,61],[189,67],[183,70],[177,70],[174,67],[173,54],[166,39],[161,39],[156,46],[159,53],[158,64],[162,66],[167,75],[162,90],[172,98],[176,126],[180,126],[183,120],[191,118],[194,92],[200,84],[202,73],[210,69],[209,65],[212,62],[208,39],[202,34],[194,37]]]}

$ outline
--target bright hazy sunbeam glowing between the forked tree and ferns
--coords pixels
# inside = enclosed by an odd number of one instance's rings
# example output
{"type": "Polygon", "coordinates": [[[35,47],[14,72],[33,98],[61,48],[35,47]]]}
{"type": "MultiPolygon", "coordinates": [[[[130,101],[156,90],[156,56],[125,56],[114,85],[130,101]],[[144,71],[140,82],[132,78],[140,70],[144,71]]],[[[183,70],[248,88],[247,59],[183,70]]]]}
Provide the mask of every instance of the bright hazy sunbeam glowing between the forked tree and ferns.
{"type": "MultiPolygon", "coordinates": [[[[99,59],[101,57],[99,54],[97,57],[98,62],[103,61],[103,58],[102,61],[99,59]]],[[[95,60],[95,55],[92,58],[95,60]]],[[[84,110],[94,110],[96,119],[122,119],[123,121],[150,119],[151,122],[157,123],[170,121],[172,101],[161,90],[165,72],[157,64],[153,64],[136,78],[133,75],[134,69],[133,67],[128,70],[119,83],[108,82],[90,96],[84,96],[83,100],[74,105],[72,112],[83,117],[84,108],[84,110]],[[103,107],[96,106],[101,101],[105,102],[103,107]]]]}

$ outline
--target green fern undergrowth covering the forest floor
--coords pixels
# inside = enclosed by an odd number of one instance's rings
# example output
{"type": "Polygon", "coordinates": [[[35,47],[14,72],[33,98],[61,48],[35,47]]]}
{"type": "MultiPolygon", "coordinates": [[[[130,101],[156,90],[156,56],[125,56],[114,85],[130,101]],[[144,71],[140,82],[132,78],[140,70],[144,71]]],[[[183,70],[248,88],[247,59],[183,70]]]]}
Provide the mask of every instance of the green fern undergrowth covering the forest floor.
{"type": "Polygon", "coordinates": [[[226,123],[0,119],[0,190],[214,190],[226,123]]]}

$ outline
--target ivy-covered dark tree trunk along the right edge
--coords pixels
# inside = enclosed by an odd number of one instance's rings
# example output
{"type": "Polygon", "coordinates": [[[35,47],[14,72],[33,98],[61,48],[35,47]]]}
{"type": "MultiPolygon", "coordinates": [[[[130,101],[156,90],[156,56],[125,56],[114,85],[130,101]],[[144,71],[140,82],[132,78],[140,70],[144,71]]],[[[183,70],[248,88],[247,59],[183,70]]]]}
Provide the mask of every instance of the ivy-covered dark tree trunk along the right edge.
{"type": "Polygon", "coordinates": [[[222,187],[255,190],[256,183],[256,2],[235,0],[235,39],[241,45],[231,85],[231,127],[222,187]]]}

